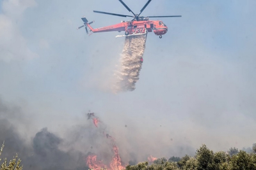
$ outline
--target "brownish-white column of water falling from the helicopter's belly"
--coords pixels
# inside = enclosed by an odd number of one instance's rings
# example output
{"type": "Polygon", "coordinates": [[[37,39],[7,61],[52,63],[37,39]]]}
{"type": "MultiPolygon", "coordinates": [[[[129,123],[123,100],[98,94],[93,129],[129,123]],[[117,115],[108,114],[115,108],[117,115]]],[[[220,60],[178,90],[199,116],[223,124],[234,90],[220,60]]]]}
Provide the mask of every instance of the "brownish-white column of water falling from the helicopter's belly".
{"type": "Polygon", "coordinates": [[[124,50],[121,55],[121,64],[116,71],[115,92],[132,91],[139,80],[143,54],[147,40],[146,35],[129,36],[125,38],[124,50]]]}

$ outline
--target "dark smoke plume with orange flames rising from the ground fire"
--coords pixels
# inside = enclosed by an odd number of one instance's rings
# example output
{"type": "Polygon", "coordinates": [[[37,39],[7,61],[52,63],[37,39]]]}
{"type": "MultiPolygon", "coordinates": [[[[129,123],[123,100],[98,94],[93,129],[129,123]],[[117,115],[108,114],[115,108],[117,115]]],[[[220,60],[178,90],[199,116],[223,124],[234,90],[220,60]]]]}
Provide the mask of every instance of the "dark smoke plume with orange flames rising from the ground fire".
{"type": "MultiPolygon", "coordinates": [[[[34,170],[123,169],[128,164],[147,160],[149,153],[159,157],[156,150],[166,147],[156,145],[157,139],[141,140],[139,137],[145,132],[138,131],[132,122],[122,129],[116,125],[109,127],[104,123],[106,118],[102,121],[94,113],[86,115],[81,123],[65,124],[58,131],[44,127],[29,132],[26,127],[35,128],[31,116],[0,98],[0,145],[3,141],[5,145],[1,157],[10,160],[18,153],[24,169],[34,170]]],[[[114,114],[111,119],[118,121],[114,114]]]]}

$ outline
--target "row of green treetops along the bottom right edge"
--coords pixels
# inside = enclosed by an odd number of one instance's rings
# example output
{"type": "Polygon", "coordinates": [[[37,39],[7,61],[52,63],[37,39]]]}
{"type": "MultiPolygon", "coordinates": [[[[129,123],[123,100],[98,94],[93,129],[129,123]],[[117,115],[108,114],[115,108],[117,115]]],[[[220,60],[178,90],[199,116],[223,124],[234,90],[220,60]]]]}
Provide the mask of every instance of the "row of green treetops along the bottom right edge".
{"type": "Polygon", "coordinates": [[[256,170],[256,144],[252,153],[246,153],[237,148],[230,148],[228,152],[212,152],[206,145],[202,145],[194,157],[185,155],[182,158],[171,157],[157,159],[153,164],[140,162],[134,166],[127,166],[126,170],[256,170]]]}

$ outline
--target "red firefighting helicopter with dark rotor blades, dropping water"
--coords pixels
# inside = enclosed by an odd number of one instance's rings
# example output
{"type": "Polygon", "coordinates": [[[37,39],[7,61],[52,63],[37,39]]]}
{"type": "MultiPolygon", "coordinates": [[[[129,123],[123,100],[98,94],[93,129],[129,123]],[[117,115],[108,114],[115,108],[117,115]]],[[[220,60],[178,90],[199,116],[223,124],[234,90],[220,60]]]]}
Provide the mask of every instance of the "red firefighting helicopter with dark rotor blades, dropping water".
{"type": "MultiPolygon", "coordinates": [[[[122,3],[125,8],[130,11],[133,16],[131,15],[122,15],[122,14],[117,14],[117,13],[108,13],[108,12],[103,12],[103,11],[93,11],[95,13],[103,13],[103,14],[108,14],[108,15],[115,15],[118,17],[132,17],[133,19],[130,21],[122,21],[119,24],[115,25],[109,25],[106,27],[100,27],[97,29],[93,29],[90,24],[93,22],[88,22],[88,20],[85,17],[82,17],[81,19],[84,22],[84,25],[81,27],[85,27],[85,30],[88,34],[88,29],[93,32],[109,32],[109,31],[125,31],[125,35],[122,36],[116,36],[117,37],[124,37],[124,36],[137,36],[137,35],[144,35],[147,34],[147,32],[152,32],[159,36],[159,38],[162,38],[163,34],[166,34],[168,31],[168,27],[161,21],[161,20],[149,20],[149,18],[160,18],[160,17],[181,17],[181,15],[171,15],[171,16],[149,16],[149,17],[140,17],[140,14],[145,10],[145,8],[148,6],[148,4],[152,0],[148,0],[148,2],[143,6],[143,8],[140,10],[139,14],[135,14],[122,0],[118,0],[120,3],[122,3]]],[[[81,29],[81,27],[78,27],[77,29],[81,29]]],[[[91,33],[91,34],[92,34],[91,33]]]]}

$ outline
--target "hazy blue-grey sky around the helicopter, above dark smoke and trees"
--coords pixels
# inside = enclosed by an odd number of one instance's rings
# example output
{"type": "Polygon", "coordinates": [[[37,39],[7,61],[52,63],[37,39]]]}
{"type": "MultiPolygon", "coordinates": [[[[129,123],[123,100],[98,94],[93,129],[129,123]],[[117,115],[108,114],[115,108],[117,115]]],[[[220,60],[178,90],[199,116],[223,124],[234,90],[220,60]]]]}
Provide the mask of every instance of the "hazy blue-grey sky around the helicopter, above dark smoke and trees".
{"type": "MultiPolygon", "coordinates": [[[[134,13],[147,3],[124,2],[134,13]]],[[[95,28],[129,20],[93,13],[131,15],[120,2],[1,0],[0,99],[26,119],[9,121],[29,141],[44,127],[63,136],[72,125],[88,124],[90,110],[115,134],[123,155],[138,148],[183,156],[203,143],[214,151],[250,147],[256,141],[255,5],[152,1],[141,15],[182,17],[161,18],[168,32],[162,39],[148,33],[136,89],[113,94],[109,80],[124,46],[115,36],[124,32],[88,36],[76,28],[83,16],[95,28]]]]}

